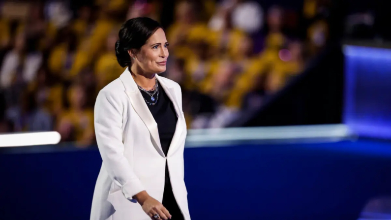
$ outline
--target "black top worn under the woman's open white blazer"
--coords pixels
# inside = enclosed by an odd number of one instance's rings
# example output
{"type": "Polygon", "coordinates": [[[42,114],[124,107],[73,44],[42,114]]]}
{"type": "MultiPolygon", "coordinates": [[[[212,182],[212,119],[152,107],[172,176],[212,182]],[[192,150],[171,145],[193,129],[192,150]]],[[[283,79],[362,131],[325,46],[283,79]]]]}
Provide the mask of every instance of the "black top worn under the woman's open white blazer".
{"type": "MultiPolygon", "coordinates": [[[[159,132],[160,144],[163,150],[164,155],[167,157],[168,149],[170,148],[171,141],[174,136],[175,128],[177,126],[177,113],[175,112],[174,104],[171,99],[167,96],[166,92],[161,87],[158,82],[158,93],[153,95],[155,101],[152,101],[149,94],[144,91],[140,91],[143,94],[144,99],[147,101],[148,108],[150,113],[152,113],[153,118],[157,123],[157,129],[159,132]],[[157,94],[159,95],[157,97],[157,94]],[[156,100],[157,98],[157,100],[156,100]],[[149,103],[155,103],[151,105],[149,103]]],[[[167,164],[166,164],[166,175],[165,183],[170,184],[170,176],[168,174],[167,164]]]]}

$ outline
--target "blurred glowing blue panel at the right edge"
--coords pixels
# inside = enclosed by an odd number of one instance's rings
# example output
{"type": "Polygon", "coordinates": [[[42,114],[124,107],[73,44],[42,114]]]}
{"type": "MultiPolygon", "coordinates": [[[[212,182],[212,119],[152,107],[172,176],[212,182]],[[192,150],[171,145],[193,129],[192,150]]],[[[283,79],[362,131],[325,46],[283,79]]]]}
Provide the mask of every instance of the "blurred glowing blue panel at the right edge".
{"type": "Polygon", "coordinates": [[[360,136],[391,138],[391,49],[345,46],[343,120],[360,136]]]}

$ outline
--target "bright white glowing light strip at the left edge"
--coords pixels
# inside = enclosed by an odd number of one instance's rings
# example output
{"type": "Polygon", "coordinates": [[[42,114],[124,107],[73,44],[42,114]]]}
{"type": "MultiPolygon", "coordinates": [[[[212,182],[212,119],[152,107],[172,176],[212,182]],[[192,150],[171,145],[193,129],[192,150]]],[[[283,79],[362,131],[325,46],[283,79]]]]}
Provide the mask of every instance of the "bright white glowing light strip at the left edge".
{"type": "Polygon", "coordinates": [[[23,147],[58,144],[61,135],[57,131],[0,134],[0,147],[23,147]]]}

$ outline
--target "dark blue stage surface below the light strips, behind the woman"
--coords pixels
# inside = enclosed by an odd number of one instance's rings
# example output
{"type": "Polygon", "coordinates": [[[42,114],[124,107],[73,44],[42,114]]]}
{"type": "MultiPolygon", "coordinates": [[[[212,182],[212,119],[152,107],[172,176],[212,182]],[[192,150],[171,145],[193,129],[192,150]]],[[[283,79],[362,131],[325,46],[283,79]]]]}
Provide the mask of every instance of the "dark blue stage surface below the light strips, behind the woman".
{"type": "MultiPolygon", "coordinates": [[[[358,220],[391,195],[388,142],[204,146],[184,159],[192,220],[358,220]]],[[[0,154],[0,219],[89,219],[100,165],[96,149],[0,154]]]]}

